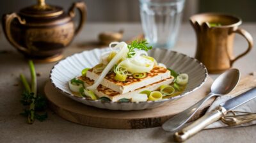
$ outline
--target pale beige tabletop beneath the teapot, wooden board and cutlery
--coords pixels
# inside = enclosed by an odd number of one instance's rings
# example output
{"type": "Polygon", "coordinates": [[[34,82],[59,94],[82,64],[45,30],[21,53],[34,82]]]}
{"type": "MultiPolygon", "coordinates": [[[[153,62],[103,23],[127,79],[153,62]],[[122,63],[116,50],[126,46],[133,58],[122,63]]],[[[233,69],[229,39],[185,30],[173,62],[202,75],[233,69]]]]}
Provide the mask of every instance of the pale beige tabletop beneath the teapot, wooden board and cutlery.
{"type": "MultiPolygon", "coordinates": [[[[242,28],[249,31],[256,40],[256,23],[242,24],[242,28]]],[[[124,40],[142,33],[140,24],[86,24],[83,31],[67,47],[64,54],[70,56],[76,52],[95,47],[97,35],[102,31],[118,31],[124,29],[124,40]]],[[[97,45],[96,45],[97,46],[97,45]]],[[[183,24],[177,45],[173,50],[194,56],[196,47],[195,32],[189,24],[183,24]]],[[[239,54],[247,47],[241,36],[236,36],[234,43],[235,54],[239,54]]],[[[92,128],[80,124],[70,123],[61,119],[51,110],[44,122],[35,121],[29,125],[20,116],[22,105],[20,94],[22,85],[19,74],[29,77],[28,63],[6,40],[0,31],[0,142],[173,142],[172,134],[161,128],[147,128],[140,130],[110,130],[92,128]]],[[[36,64],[39,91],[43,92],[44,84],[49,80],[49,72],[55,63],[36,64]]],[[[238,68],[242,75],[256,71],[256,49],[242,59],[234,68],[238,68]]],[[[218,75],[211,75],[216,78],[218,75]]],[[[255,142],[256,126],[243,128],[222,128],[204,130],[187,142],[255,142]]]]}

